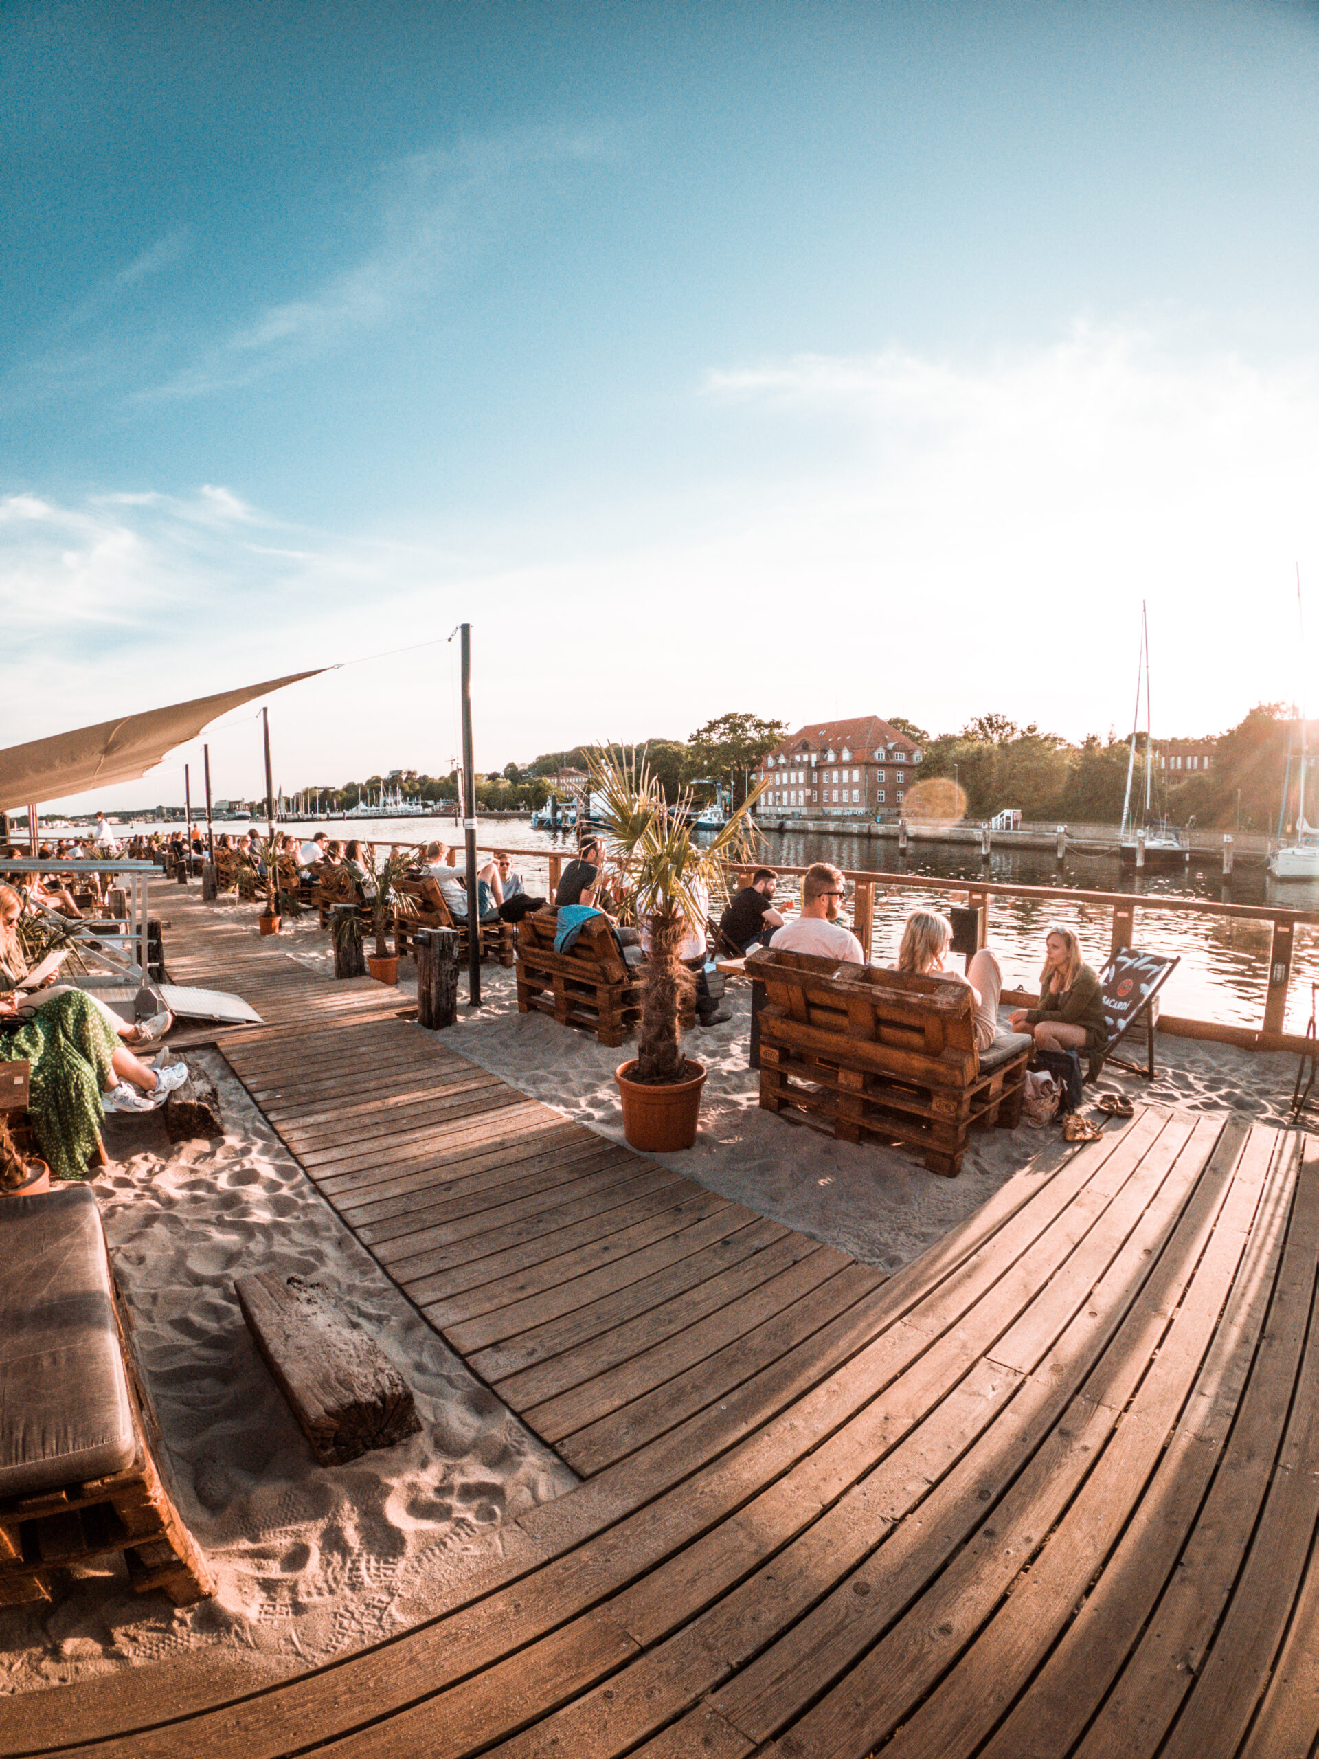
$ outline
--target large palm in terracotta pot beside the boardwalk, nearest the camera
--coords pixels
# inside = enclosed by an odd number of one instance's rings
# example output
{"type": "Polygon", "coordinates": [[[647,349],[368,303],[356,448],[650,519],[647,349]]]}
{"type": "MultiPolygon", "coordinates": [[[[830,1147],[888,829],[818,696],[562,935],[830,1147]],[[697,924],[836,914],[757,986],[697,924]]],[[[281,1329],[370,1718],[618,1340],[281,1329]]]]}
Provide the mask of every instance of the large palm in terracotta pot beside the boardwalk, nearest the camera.
{"type": "Polygon", "coordinates": [[[695,989],[681,950],[688,923],[700,923],[709,894],[728,865],[754,857],[753,793],[709,844],[691,830],[691,795],[668,800],[645,760],[596,746],[587,755],[591,800],[605,823],[608,857],[619,865],[628,904],[647,934],[637,1055],[614,1071],[623,1098],[623,1133],[633,1149],[674,1152],[696,1140],[705,1066],[679,1045],[682,1004],[695,989]]]}

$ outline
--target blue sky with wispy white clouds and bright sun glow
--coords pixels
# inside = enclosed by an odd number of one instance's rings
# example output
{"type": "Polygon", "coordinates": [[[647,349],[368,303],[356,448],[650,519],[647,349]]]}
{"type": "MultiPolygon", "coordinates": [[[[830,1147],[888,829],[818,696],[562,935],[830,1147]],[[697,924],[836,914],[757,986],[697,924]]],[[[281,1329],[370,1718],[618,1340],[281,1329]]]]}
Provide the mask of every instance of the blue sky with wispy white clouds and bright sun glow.
{"type": "Polygon", "coordinates": [[[1155,735],[1303,697],[1315,90],[1315,4],[4,0],[4,742],[334,665],[278,786],[447,772],[463,621],[478,769],[1122,734],[1141,602],[1155,735]]]}

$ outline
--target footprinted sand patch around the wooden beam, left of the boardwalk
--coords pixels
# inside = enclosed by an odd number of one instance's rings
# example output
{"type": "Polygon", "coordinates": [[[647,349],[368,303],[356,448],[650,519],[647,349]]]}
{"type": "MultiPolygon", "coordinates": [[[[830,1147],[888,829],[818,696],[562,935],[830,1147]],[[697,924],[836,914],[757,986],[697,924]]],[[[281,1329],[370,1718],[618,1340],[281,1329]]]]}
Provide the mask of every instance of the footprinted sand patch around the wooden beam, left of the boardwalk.
{"type": "Polygon", "coordinates": [[[577,1479],[448,1351],[290,1159],[216,1052],[225,1138],[171,1149],[155,1113],[109,1119],[95,1182],[160,1414],[172,1488],[218,1581],[172,1608],[121,1562],[0,1609],[0,1690],[211,1648],[295,1671],[424,1618],[499,1550],[501,1523],[577,1479]],[[257,1354],[234,1275],[324,1282],[403,1372],[422,1434],[320,1467],[257,1354]]]}

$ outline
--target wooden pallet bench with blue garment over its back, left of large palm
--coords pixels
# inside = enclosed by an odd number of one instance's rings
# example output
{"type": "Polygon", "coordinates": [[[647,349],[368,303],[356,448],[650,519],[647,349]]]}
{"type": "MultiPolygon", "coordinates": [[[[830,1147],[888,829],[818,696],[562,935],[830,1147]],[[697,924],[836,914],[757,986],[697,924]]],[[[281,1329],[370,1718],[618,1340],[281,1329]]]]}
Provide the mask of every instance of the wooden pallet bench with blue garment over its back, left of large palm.
{"type": "MultiPolygon", "coordinates": [[[[517,925],[517,1010],[550,1013],[559,1025],[621,1045],[642,1017],[640,971],[619,952],[607,916],[593,916],[566,953],[554,952],[559,913],[552,904],[517,925]]],[[[688,1013],[688,1029],[695,1015],[688,1013]]]]}

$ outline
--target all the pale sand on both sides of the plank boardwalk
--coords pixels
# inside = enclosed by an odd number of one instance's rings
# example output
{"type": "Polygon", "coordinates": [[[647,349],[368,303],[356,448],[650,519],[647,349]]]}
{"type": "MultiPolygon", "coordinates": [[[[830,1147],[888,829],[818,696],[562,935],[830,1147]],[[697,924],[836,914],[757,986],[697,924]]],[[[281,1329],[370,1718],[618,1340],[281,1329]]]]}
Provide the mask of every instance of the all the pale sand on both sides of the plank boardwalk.
{"type": "MultiPolygon", "coordinates": [[[[332,955],[315,918],[287,950],[318,971],[332,955]]],[[[415,989],[404,964],[403,987],[415,989]]],[[[466,996],[466,980],[461,994],[466,996]]],[[[695,1149],[661,1156],[703,1186],[893,1272],[971,1215],[1015,1173],[1045,1177],[1071,1152],[1057,1128],[973,1136],[958,1179],[902,1149],[834,1142],[762,1112],[747,1068],[749,985],[732,1018],[693,1031],[709,1068],[695,1149]]],[[[420,1027],[417,1027],[420,1031],[420,1027]]],[[[514,973],[482,971],[482,1006],[459,1006],[452,1048],[522,1092],[623,1140],[610,1050],[545,1015],[519,1015],[514,973]]],[[[1104,1077],[1136,1099],[1287,1120],[1291,1057],[1162,1040],[1155,1082],[1104,1077]]],[[[218,1580],[176,1609],[137,1597],[121,1567],[67,1573],[49,1606],[0,1611],[0,1690],[25,1692],[183,1660],[206,1648],[246,1683],[315,1666],[433,1611],[498,1555],[501,1525],[575,1479],[487,1391],[343,1228],[215,1050],[225,1138],[171,1147],[155,1115],[109,1120],[113,1164],[95,1184],[171,1451],[185,1520],[218,1580]],[[243,1270],[324,1282],[397,1363],[422,1434],[345,1467],[315,1465],[234,1300],[243,1270]]]]}

